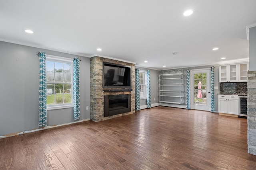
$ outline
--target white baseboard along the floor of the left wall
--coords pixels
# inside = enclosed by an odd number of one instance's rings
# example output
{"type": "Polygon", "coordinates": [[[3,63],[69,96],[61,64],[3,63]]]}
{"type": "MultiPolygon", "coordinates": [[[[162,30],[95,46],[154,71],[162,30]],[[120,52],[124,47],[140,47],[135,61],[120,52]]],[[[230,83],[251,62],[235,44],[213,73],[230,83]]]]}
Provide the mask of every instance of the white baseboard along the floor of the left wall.
{"type": "Polygon", "coordinates": [[[22,134],[25,134],[25,133],[32,133],[32,132],[36,132],[36,131],[42,131],[44,129],[51,129],[51,128],[54,128],[54,127],[71,125],[71,124],[74,124],[74,123],[79,123],[79,122],[89,121],[89,120],[90,120],[90,118],[79,120],[79,121],[74,121],[74,122],[70,122],[70,123],[64,123],[64,124],[60,124],[60,125],[46,126],[46,127],[36,128],[36,129],[32,129],[32,130],[26,130],[26,131],[17,132],[17,133],[11,133],[10,135],[7,134],[5,136],[0,136],[0,139],[1,138],[6,138],[6,137],[11,137],[11,136],[16,136],[16,135],[22,135],[22,134]]]}

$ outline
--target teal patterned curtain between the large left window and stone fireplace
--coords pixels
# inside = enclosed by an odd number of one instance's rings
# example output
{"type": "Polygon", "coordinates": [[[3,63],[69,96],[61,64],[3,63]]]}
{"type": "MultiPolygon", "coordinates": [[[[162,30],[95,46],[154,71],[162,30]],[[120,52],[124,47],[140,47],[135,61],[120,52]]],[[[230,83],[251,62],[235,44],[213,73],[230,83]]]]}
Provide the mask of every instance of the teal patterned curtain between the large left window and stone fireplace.
{"type": "Polygon", "coordinates": [[[80,60],[73,59],[74,120],[80,119],[80,60]]]}

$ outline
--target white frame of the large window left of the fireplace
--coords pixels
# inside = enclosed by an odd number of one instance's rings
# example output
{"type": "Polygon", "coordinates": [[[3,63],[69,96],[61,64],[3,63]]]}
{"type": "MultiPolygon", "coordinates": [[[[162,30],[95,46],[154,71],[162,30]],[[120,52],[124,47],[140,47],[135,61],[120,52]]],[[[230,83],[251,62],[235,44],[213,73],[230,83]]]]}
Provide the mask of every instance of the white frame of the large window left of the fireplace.
{"type": "MultiPolygon", "coordinates": [[[[49,82],[49,84],[71,84],[71,103],[70,104],[48,105],[48,106],[46,106],[46,109],[54,110],[54,109],[64,109],[64,108],[74,107],[74,104],[73,104],[73,59],[65,58],[65,57],[58,57],[58,56],[53,56],[53,55],[46,55],[46,61],[54,61],[54,62],[70,63],[71,64],[71,83],[49,82]]],[[[47,71],[46,71],[46,75],[47,75],[47,71]]],[[[47,84],[47,82],[46,82],[46,84],[47,84]]]]}

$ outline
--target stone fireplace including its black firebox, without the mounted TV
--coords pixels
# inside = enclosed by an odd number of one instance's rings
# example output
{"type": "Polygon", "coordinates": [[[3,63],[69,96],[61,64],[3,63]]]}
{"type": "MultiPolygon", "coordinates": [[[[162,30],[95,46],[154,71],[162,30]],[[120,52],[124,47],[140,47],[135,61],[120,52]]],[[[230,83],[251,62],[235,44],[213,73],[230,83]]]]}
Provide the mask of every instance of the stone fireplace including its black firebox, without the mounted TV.
{"type": "Polygon", "coordinates": [[[135,90],[135,64],[127,63],[123,61],[116,61],[113,59],[107,59],[107,58],[98,57],[98,56],[92,57],[90,59],[90,119],[92,121],[95,121],[95,122],[103,121],[103,120],[112,119],[115,117],[120,117],[120,116],[135,113],[135,91],[134,90],[135,90]],[[131,88],[117,87],[117,88],[111,88],[111,89],[103,88],[102,87],[103,62],[131,66],[132,87],[131,88]],[[104,113],[104,110],[105,110],[105,113],[104,113]]]}

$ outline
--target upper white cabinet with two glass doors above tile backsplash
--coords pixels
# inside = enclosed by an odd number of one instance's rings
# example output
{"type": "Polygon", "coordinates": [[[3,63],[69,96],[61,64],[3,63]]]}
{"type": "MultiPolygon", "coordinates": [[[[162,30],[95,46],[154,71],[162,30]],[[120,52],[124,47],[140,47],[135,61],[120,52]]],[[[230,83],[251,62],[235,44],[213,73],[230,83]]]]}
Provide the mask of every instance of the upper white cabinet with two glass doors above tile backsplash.
{"type": "Polygon", "coordinates": [[[220,82],[238,82],[238,64],[220,65],[220,82]]]}

